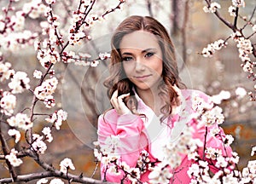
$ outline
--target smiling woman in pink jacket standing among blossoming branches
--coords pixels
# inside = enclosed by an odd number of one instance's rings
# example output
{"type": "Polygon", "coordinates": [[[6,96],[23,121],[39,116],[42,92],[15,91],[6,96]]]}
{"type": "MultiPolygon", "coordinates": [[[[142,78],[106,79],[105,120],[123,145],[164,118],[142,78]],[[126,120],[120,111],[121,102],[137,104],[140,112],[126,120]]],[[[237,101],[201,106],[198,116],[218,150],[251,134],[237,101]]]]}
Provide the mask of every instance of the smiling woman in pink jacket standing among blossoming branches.
{"type": "MultiPolygon", "coordinates": [[[[193,129],[191,139],[201,140],[196,145],[198,157],[208,159],[206,147],[230,155],[230,147],[224,147],[222,141],[223,130],[207,136],[218,125],[206,129],[197,121],[200,116],[195,116],[198,108],[193,108],[194,99],[198,97],[211,108],[212,102],[200,91],[184,89],[174,46],[160,22],[148,16],[131,16],[121,22],[113,33],[109,69],[110,77],[104,84],[113,109],[98,119],[102,180],[153,182],[159,177],[152,174],[154,168],[167,158],[163,151],[166,144],[180,140],[186,127],[193,129]]],[[[168,174],[160,174],[165,179],[155,182],[189,183],[188,170],[195,159],[183,151],[171,159],[172,164],[163,167],[168,174]]],[[[210,167],[216,172],[216,167],[210,167]]]]}

